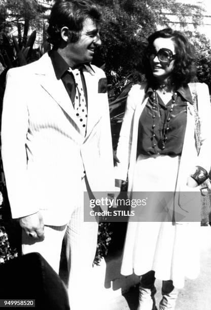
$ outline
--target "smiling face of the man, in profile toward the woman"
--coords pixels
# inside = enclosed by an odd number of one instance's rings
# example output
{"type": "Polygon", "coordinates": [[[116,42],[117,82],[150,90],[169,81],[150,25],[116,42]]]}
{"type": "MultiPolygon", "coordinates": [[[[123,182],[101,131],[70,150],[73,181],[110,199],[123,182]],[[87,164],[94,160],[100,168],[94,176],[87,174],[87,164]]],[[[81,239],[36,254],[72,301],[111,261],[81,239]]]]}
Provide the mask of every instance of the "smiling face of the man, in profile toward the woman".
{"type": "Polygon", "coordinates": [[[84,21],[79,40],[76,43],[67,44],[69,59],[73,65],[91,62],[94,50],[99,45],[101,45],[99,29],[92,19],[87,18],[84,21]]]}

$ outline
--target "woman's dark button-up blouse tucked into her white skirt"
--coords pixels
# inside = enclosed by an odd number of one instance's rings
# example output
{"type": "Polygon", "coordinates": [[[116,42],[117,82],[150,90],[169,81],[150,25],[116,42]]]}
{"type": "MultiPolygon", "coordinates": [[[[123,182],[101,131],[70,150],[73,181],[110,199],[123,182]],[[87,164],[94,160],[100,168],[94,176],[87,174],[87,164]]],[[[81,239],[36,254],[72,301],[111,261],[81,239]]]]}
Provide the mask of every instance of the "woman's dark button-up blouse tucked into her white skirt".
{"type": "Polygon", "coordinates": [[[164,149],[158,146],[158,141],[160,135],[163,135],[164,127],[166,127],[165,122],[171,107],[171,100],[165,105],[157,95],[158,111],[157,104],[154,105],[155,109],[153,110],[153,89],[150,87],[147,90],[147,96],[149,97],[148,102],[139,118],[137,156],[139,154],[147,156],[153,154],[177,156],[181,154],[187,124],[187,101],[193,104],[189,87],[181,87],[177,90],[177,98],[170,113],[169,130],[164,149]],[[152,118],[153,114],[155,115],[154,119],[152,118]],[[155,125],[155,136],[152,138],[153,124],[155,125]]]}

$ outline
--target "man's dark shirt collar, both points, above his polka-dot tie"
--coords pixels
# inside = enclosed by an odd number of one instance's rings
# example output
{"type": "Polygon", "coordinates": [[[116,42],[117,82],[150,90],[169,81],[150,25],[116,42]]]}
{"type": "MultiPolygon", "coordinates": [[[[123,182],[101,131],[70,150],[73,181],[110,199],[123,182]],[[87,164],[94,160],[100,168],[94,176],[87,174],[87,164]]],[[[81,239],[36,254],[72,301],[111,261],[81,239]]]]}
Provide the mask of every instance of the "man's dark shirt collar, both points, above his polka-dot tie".
{"type": "MultiPolygon", "coordinates": [[[[54,50],[54,49],[52,49],[49,52],[49,56],[51,58],[51,62],[52,62],[53,68],[54,68],[56,79],[59,80],[59,79],[61,79],[61,77],[64,74],[64,72],[69,69],[69,65],[61,57],[61,55],[56,50],[54,50]]],[[[94,71],[94,69],[93,69],[93,67],[91,66],[90,63],[81,64],[81,65],[78,66],[78,68],[86,70],[91,75],[94,75],[94,73],[95,73],[95,71],[94,71]]]]}

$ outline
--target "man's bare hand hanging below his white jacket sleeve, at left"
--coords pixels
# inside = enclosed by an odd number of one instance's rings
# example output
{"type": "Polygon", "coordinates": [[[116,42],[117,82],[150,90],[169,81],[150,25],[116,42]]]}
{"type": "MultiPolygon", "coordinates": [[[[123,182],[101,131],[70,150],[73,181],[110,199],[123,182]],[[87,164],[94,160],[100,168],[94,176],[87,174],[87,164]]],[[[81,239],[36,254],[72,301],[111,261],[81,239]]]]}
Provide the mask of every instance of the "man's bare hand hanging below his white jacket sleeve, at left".
{"type": "Polygon", "coordinates": [[[44,222],[40,211],[21,217],[19,223],[28,236],[34,239],[44,240],[44,222]]]}

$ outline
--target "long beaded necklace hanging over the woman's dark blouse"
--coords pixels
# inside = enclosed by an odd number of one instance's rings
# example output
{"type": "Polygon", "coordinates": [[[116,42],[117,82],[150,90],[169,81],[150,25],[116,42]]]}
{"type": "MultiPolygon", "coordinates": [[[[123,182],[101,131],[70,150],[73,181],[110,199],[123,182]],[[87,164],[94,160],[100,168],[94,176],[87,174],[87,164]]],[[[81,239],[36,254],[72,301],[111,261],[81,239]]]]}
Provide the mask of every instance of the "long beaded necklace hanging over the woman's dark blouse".
{"type": "Polygon", "coordinates": [[[152,136],[151,136],[153,148],[156,147],[156,135],[154,132],[154,129],[155,129],[155,106],[157,106],[157,109],[158,109],[159,126],[160,126],[160,137],[159,137],[157,145],[161,150],[164,150],[165,149],[165,143],[167,140],[167,134],[169,131],[169,123],[170,123],[170,119],[171,119],[171,112],[173,111],[173,106],[174,106],[176,99],[177,99],[177,93],[173,93],[172,97],[171,97],[171,106],[170,106],[170,109],[168,111],[168,115],[167,115],[167,118],[166,118],[164,126],[163,126],[163,130],[162,130],[160,108],[159,108],[159,103],[158,103],[157,92],[156,92],[156,90],[153,91],[153,107],[152,107],[152,109],[153,109],[153,114],[152,114],[153,125],[152,125],[152,136]]]}

